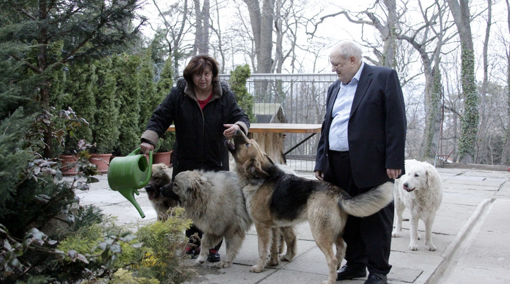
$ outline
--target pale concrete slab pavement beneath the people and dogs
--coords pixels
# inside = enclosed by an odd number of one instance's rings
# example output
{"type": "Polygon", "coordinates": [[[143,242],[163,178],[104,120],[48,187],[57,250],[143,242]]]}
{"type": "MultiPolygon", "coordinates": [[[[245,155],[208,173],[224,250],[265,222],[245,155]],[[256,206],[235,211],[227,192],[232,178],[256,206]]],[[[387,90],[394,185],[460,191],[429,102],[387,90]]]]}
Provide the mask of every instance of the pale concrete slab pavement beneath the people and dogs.
{"type": "MultiPolygon", "coordinates": [[[[426,250],[424,240],[417,251],[409,246],[409,221],[402,224],[402,236],[392,239],[389,283],[510,283],[510,172],[472,168],[438,168],[444,185],[443,203],[433,226],[435,252],[426,250]]],[[[300,176],[314,178],[306,172],[300,176]]],[[[146,217],[108,187],[106,175],[78,191],[80,204],[95,204],[104,213],[117,216],[120,224],[154,222],[156,213],[147,194],[135,196],[146,217]]],[[[404,211],[409,220],[409,211],[404,211]]],[[[424,237],[424,224],[418,227],[424,237]]],[[[195,266],[190,283],[320,283],[327,278],[326,259],[315,246],[308,223],[296,228],[298,255],[291,262],[261,273],[250,272],[258,258],[256,231],[252,227],[230,268],[217,269],[211,263],[195,266]]],[[[225,255],[225,246],[221,247],[225,255]]],[[[190,260],[190,263],[193,263],[190,260]]],[[[194,264],[192,264],[194,265],[194,264]]],[[[363,283],[365,279],[339,281],[363,283]]]]}

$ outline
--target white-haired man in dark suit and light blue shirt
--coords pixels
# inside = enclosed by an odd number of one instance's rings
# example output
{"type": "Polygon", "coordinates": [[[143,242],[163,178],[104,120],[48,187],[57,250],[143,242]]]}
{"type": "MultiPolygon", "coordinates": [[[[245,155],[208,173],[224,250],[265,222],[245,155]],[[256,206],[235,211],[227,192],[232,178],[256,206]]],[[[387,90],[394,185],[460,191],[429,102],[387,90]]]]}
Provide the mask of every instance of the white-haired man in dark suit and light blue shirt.
{"type": "MultiPolygon", "coordinates": [[[[356,196],[404,174],[404,97],[396,71],[364,63],[356,43],[333,47],[330,62],[338,80],[328,89],[315,176],[356,196]]],[[[337,280],[365,277],[368,268],[365,284],[387,283],[392,227],[393,202],[369,217],[349,216],[337,280]]]]}

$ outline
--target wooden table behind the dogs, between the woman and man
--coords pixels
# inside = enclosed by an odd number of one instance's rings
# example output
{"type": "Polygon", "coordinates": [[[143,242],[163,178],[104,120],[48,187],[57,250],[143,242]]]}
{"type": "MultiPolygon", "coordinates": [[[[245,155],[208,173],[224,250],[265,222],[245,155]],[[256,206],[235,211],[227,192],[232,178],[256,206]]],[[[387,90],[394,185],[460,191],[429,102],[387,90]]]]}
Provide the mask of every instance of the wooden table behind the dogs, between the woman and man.
{"type": "MultiPolygon", "coordinates": [[[[175,126],[170,126],[168,131],[175,131],[175,126]]],[[[254,139],[274,163],[285,165],[285,155],[319,132],[321,132],[321,124],[252,123],[248,137],[254,139]],[[291,147],[287,152],[283,152],[284,133],[309,133],[310,135],[291,147]]]]}

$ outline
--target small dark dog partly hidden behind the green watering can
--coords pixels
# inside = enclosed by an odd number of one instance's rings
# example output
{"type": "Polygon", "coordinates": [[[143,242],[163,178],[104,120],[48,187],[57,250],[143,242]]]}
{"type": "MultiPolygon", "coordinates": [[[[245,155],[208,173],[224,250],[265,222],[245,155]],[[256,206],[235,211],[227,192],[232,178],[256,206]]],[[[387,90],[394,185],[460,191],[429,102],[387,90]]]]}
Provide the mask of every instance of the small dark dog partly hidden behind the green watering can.
{"type": "Polygon", "coordinates": [[[158,214],[158,220],[166,220],[168,209],[178,205],[177,199],[162,196],[160,192],[160,188],[168,185],[171,181],[172,170],[169,167],[165,164],[152,165],[151,180],[145,186],[145,191],[147,191],[147,197],[158,214]]]}

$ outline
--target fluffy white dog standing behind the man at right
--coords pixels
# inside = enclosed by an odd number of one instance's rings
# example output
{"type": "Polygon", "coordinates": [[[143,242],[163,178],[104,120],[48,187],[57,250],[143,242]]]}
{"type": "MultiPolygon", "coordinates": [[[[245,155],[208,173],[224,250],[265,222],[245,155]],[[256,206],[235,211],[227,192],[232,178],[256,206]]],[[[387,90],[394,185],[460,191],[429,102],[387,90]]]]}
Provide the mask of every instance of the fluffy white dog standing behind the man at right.
{"type": "Polygon", "coordinates": [[[395,180],[395,216],[396,227],[392,237],[399,237],[402,230],[402,212],[407,207],[411,211],[411,241],[409,250],[417,250],[418,220],[425,223],[425,246],[427,250],[436,250],[432,242],[432,226],[441,200],[443,185],[437,169],[426,162],[406,160],[406,174],[395,180]]]}

